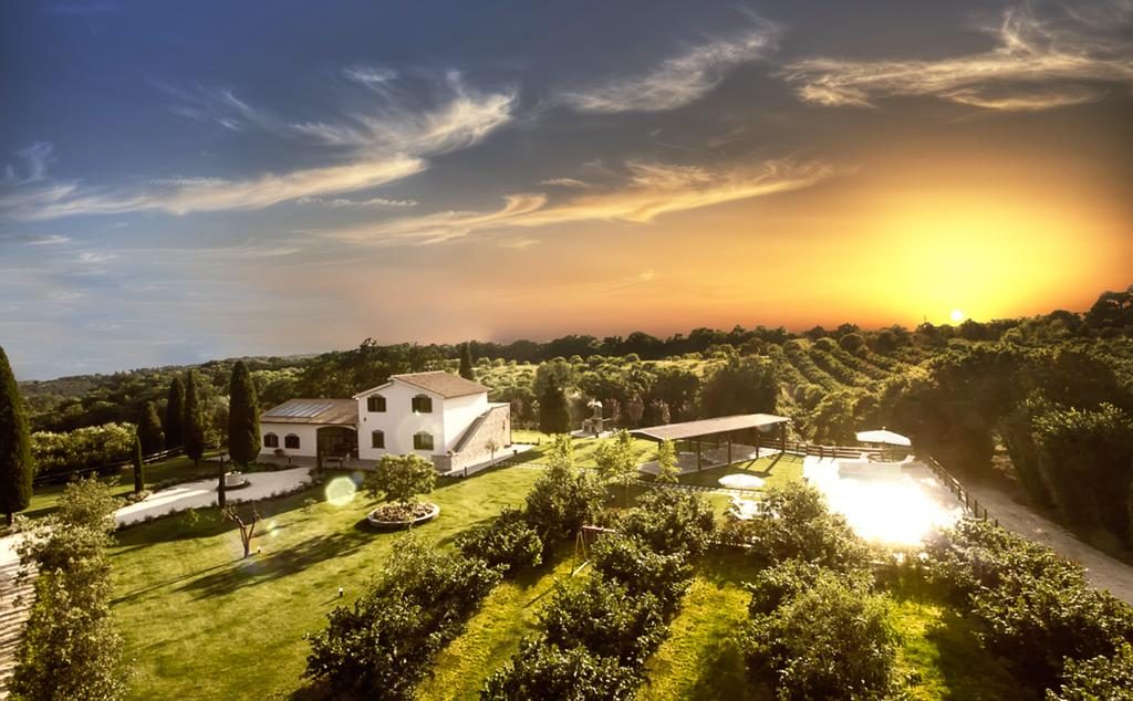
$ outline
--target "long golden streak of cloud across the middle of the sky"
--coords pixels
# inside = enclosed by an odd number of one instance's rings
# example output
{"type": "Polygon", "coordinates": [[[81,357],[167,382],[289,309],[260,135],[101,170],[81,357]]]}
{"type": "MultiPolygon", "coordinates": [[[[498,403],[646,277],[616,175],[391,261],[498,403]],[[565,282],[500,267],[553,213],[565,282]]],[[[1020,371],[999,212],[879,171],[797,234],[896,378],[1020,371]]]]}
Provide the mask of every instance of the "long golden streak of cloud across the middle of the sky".
{"type": "Polygon", "coordinates": [[[427,245],[480,231],[531,229],[564,223],[625,222],[644,224],[656,217],[726,202],[810,187],[838,174],[823,164],[768,161],[731,170],[630,163],[623,187],[551,204],[542,193],[520,193],[488,212],[435,212],[369,225],[312,231],[318,237],[365,246],[427,245]]]}

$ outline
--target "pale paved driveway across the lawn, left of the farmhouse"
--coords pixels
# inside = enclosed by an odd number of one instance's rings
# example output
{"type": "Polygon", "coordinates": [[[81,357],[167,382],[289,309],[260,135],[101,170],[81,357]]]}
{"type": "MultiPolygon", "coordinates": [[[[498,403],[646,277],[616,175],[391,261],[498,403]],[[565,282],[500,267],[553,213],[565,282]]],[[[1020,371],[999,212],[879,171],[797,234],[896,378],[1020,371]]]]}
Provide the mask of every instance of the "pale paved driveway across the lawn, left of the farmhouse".
{"type": "MultiPolygon", "coordinates": [[[[287,494],[310,481],[307,468],[276,470],[273,472],[248,472],[245,475],[248,486],[228,490],[228,501],[232,504],[250,502],[270,496],[287,494]]],[[[195,482],[176,485],[151,494],[145,501],[129,506],[122,506],[114,512],[119,524],[135,523],[146,518],[161,516],[187,508],[201,508],[216,504],[216,479],[202,479],[195,482]]]]}

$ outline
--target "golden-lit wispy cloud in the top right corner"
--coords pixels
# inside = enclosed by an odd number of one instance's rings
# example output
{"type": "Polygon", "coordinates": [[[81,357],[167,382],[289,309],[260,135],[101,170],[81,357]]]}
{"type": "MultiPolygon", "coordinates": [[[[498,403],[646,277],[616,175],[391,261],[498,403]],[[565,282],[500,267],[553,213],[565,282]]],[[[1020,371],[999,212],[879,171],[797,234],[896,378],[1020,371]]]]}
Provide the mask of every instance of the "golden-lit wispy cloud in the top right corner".
{"type": "Polygon", "coordinates": [[[783,71],[806,102],[872,106],[895,95],[934,95],[988,110],[1034,111],[1092,102],[1133,85],[1133,2],[1039,16],[1010,8],[990,51],[936,61],[810,59],[783,71]]]}

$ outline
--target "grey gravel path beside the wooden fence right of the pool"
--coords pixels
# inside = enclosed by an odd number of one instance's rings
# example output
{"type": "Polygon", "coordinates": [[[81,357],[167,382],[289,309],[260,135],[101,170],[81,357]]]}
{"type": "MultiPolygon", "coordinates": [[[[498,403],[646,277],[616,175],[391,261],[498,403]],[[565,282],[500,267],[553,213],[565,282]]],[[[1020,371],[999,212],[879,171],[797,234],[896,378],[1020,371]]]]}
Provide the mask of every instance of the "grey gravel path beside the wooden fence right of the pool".
{"type": "Polygon", "coordinates": [[[979,499],[980,505],[987,506],[999,525],[1076,562],[1085,567],[1087,579],[1096,588],[1108,589],[1118,599],[1133,604],[1133,566],[1082,542],[1065,528],[994,486],[965,482],[964,489],[979,499]]]}

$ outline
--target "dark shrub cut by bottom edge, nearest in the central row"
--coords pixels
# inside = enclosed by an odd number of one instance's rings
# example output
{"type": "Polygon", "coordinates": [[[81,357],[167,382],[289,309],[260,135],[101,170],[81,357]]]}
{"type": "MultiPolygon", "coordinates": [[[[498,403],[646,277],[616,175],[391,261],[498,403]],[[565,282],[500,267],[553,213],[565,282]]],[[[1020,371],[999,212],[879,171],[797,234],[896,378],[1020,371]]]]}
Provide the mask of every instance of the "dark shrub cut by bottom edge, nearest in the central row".
{"type": "Polygon", "coordinates": [[[543,640],[525,641],[519,653],[488,678],[480,699],[620,701],[633,696],[639,681],[616,659],[586,648],[564,650],[543,640]]]}

